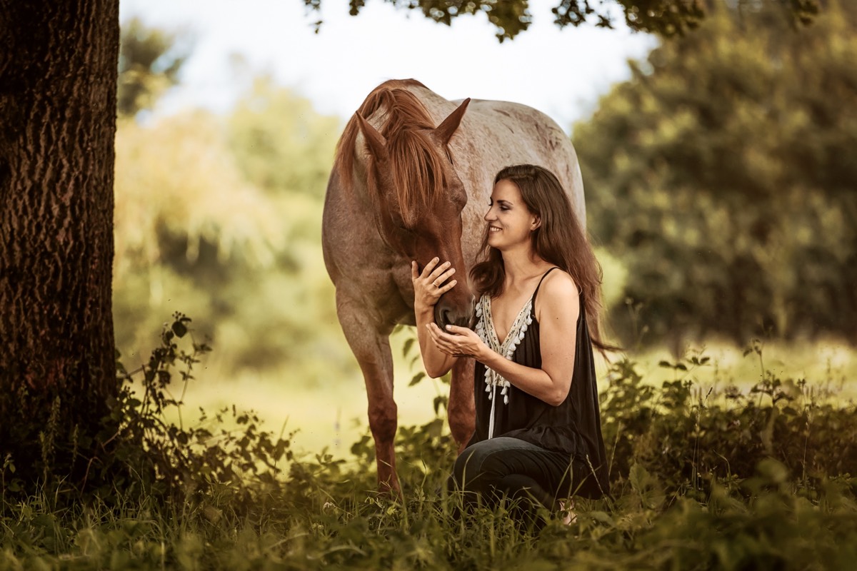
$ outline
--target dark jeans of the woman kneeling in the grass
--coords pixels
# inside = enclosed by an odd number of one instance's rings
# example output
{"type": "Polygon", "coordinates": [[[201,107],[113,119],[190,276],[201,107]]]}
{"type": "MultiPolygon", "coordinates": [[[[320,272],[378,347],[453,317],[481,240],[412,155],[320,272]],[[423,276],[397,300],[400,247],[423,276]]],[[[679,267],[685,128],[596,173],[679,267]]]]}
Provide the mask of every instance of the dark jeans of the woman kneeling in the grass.
{"type": "Polygon", "coordinates": [[[493,506],[505,496],[519,500],[524,508],[536,502],[554,510],[588,472],[569,455],[518,438],[496,437],[464,449],[452,468],[449,486],[464,491],[467,503],[481,497],[493,506]]]}

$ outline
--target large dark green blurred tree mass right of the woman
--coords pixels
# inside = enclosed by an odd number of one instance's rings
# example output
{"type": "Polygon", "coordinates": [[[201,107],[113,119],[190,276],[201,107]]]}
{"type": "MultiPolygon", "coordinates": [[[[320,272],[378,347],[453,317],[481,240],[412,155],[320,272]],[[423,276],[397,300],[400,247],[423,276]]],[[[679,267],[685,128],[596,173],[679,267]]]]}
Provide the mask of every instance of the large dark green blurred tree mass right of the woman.
{"type": "Polygon", "coordinates": [[[590,229],[628,271],[632,342],[762,332],[857,342],[857,4],[794,29],[716,9],[574,126],[590,229]]]}

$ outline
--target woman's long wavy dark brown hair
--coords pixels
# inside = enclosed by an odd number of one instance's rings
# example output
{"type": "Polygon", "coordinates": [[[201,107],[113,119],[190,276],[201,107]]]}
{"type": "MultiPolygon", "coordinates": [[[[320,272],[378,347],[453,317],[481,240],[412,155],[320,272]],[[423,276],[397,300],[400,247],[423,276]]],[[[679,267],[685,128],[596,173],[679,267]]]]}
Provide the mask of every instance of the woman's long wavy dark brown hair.
{"type": "MultiPolygon", "coordinates": [[[[568,272],[583,292],[592,344],[601,351],[614,350],[615,347],[604,342],[601,336],[601,265],[559,179],[543,167],[515,164],[497,173],[494,184],[499,181],[515,183],[524,204],[542,220],[542,224],[530,234],[533,251],[546,262],[568,272]]],[[[470,270],[470,277],[477,294],[496,297],[503,291],[506,268],[500,250],[488,246],[487,229],[482,240],[481,258],[482,261],[470,270]]]]}

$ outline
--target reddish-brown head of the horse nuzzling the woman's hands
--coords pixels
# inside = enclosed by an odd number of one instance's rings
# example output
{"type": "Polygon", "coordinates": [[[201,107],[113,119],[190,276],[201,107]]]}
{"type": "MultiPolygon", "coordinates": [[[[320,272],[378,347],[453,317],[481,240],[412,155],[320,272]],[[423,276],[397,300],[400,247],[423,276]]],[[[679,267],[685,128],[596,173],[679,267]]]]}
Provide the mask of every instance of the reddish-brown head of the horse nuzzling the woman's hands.
{"type": "Polygon", "coordinates": [[[461,211],[467,192],[448,146],[469,103],[465,99],[436,128],[424,109],[423,116],[416,116],[406,105],[403,111],[401,104],[388,110],[381,131],[357,113],[369,150],[367,186],[375,200],[381,237],[406,259],[417,260],[420,271],[435,256],[441,263],[452,262],[456,269],[455,287],[434,306],[434,321],[441,328],[468,326],[474,305],[467,280],[470,268],[461,248],[461,211]]]}

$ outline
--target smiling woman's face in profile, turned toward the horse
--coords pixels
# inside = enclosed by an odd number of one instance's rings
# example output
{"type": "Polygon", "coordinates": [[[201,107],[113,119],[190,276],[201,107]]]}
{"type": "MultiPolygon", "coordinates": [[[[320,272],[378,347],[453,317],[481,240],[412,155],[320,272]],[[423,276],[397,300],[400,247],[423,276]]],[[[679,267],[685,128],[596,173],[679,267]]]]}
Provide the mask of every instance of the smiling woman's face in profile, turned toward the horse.
{"type": "Polygon", "coordinates": [[[537,227],[538,218],[530,212],[518,185],[512,181],[498,181],[491,193],[491,206],[485,213],[488,223],[488,246],[500,252],[514,247],[530,247],[530,233],[537,227]]]}

